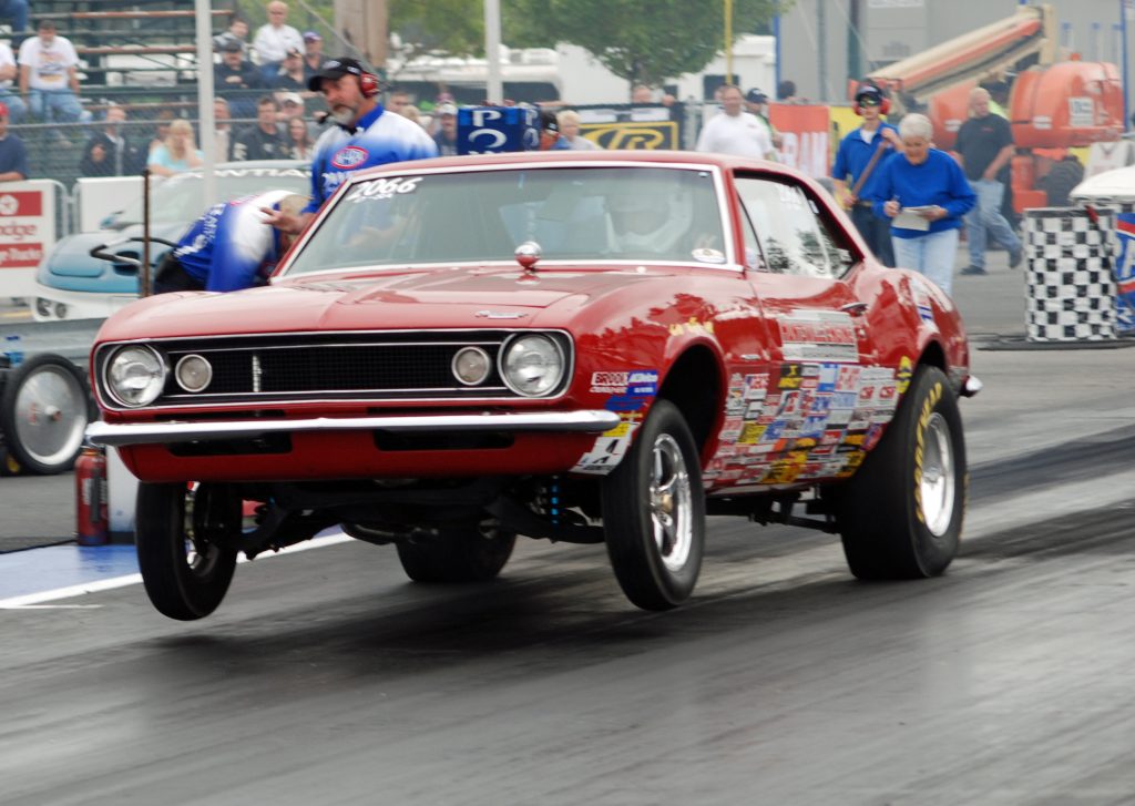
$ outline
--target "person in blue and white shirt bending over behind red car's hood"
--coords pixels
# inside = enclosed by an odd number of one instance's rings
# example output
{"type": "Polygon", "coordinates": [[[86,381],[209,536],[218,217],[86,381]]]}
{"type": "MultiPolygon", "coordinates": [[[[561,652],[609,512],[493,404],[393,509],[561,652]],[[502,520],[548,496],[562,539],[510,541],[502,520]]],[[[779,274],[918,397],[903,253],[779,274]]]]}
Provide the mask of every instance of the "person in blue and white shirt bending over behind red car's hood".
{"type": "Polygon", "coordinates": [[[274,229],[261,210],[295,213],[306,201],[291,191],[267,191],[213,204],[162,258],[153,293],[239,291],[263,284],[292,236],[274,229]]]}

